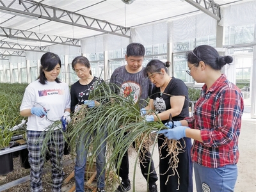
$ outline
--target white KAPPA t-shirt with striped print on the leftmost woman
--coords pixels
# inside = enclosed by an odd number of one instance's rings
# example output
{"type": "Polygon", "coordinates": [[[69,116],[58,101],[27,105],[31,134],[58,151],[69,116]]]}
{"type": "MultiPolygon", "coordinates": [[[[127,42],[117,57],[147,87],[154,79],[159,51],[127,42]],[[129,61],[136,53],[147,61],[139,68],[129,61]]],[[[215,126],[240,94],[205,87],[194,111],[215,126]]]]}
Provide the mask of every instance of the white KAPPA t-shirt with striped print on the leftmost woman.
{"type": "MultiPolygon", "coordinates": [[[[20,111],[33,107],[49,109],[47,116],[31,115],[28,117],[28,130],[47,131],[54,121],[60,120],[65,109],[70,108],[70,91],[67,83],[47,81],[46,84],[36,80],[30,83],[24,93],[20,111]]],[[[61,126],[60,126],[61,127],[61,126]]]]}

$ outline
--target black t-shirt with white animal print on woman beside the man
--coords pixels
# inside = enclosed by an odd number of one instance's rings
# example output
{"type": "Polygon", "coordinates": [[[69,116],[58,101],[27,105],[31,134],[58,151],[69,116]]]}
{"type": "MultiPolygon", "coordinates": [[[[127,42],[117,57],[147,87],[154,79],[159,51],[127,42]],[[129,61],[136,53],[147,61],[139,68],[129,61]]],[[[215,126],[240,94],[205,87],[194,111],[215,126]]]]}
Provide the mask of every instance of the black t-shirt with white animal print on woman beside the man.
{"type": "MultiPolygon", "coordinates": [[[[170,97],[172,97],[172,95],[185,96],[183,109],[180,115],[173,116],[173,120],[174,121],[182,120],[186,116],[189,116],[188,87],[182,80],[176,79],[175,77],[172,77],[172,80],[166,86],[163,93],[160,92],[160,88],[157,88],[156,86],[153,87],[152,95],[150,95],[150,99],[154,100],[153,104],[154,104],[155,111],[157,113],[162,113],[163,111],[171,109],[172,106],[170,104],[170,97]]],[[[164,120],[162,122],[164,124],[167,122],[167,120],[164,120]]]]}

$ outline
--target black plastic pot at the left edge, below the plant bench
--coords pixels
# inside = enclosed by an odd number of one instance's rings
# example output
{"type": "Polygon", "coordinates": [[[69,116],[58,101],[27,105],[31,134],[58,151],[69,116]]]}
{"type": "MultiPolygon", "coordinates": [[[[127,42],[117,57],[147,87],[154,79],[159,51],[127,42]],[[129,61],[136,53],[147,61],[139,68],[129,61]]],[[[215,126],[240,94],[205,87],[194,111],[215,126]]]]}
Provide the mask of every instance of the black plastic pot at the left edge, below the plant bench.
{"type": "MultiPolygon", "coordinates": [[[[14,142],[10,143],[10,147],[14,145],[14,142]]],[[[1,150],[8,150],[10,147],[2,148],[1,150]]],[[[6,175],[7,173],[10,173],[13,171],[13,159],[12,159],[12,153],[4,154],[0,156],[0,163],[2,166],[0,166],[0,175],[6,175]]]]}

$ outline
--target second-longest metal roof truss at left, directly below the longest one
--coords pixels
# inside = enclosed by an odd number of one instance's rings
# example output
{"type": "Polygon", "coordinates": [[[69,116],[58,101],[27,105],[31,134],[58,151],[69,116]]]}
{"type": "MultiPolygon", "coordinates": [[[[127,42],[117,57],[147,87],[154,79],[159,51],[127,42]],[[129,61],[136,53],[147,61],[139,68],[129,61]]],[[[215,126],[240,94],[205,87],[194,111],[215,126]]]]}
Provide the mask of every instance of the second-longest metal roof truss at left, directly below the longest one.
{"type": "Polygon", "coordinates": [[[29,40],[29,41],[35,41],[35,42],[45,42],[45,43],[51,43],[51,44],[60,44],[60,45],[72,45],[76,47],[80,47],[79,39],[76,38],[67,38],[62,36],[53,36],[53,35],[42,35],[40,33],[35,33],[31,31],[24,31],[19,29],[10,29],[10,28],[3,28],[0,27],[0,35],[7,38],[14,38],[17,40],[29,40]]]}

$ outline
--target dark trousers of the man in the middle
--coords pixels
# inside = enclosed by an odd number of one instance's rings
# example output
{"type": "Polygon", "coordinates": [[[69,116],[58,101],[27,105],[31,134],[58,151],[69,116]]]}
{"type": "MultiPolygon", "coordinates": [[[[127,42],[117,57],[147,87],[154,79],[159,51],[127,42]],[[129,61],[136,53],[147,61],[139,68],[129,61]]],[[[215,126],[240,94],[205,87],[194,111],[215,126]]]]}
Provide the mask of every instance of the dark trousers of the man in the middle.
{"type": "MultiPolygon", "coordinates": [[[[145,151],[143,149],[142,151],[145,151]]],[[[155,170],[153,159],[151,158],[150,152],[143,152],[140,151],[140,168],[141,173],[143,177],[148,181],[149,184],[154,184],[157,181],[157,173],[155,170]],[[151,160],[150,160],[151,159],[151,160]],[[149,170],[148,170],[149,168],[149,170]],[[148,176],[149,174],[149,176],[148,176]]],[[[118,157],[120,157],[120,154],[118,154],[118,157]]],[[[116,164],[117,167],[117,164],[116,164]]],[[[119,177],[122,178],[122,180],[129,179],[129,155],[128,151],[125,152],[125,155],[122,157],[122,162],[120,164],[119,170],[116,169],[116,173],[119,177]]]]}

